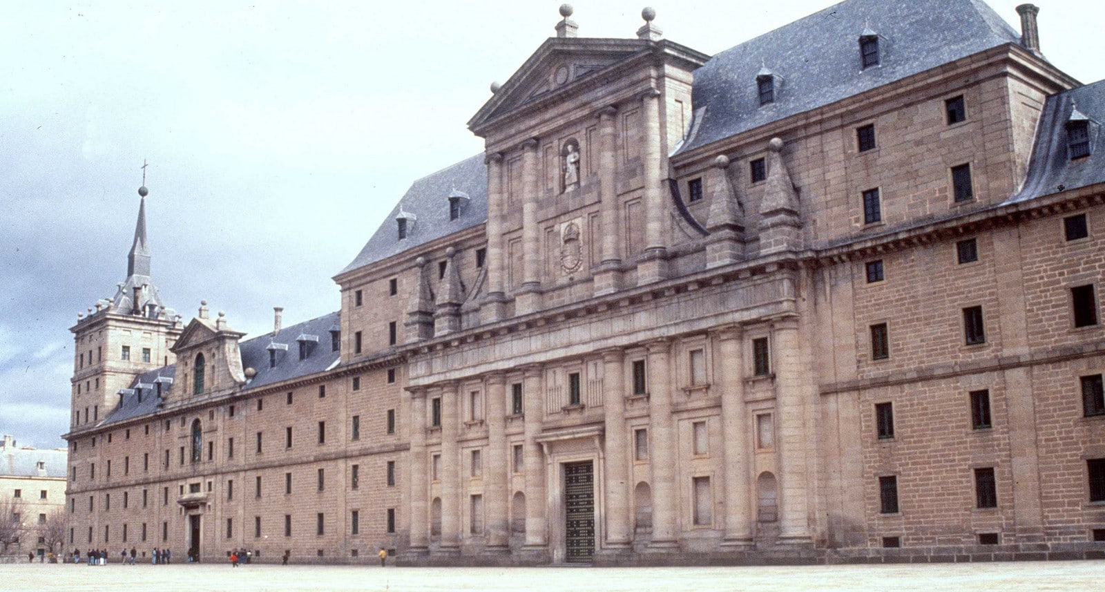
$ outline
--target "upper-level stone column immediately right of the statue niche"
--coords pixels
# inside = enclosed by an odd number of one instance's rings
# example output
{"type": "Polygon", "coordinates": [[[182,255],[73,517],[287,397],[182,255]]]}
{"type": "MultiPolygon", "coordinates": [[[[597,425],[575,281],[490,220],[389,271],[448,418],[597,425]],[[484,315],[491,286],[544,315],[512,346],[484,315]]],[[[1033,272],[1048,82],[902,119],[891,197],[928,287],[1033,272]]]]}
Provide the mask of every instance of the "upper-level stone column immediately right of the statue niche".
{"type": "MultiPolygon", "coordinates": [[[[618,200],[618,152],[614,116],[618,109],[599,110],[599,200],[602,216],[602,261],[594,273],[594,294],[610,294],[621,288],[621,203],[618,200]]],[[[594,240],[593,237],[591,240],[594,240]]]]}

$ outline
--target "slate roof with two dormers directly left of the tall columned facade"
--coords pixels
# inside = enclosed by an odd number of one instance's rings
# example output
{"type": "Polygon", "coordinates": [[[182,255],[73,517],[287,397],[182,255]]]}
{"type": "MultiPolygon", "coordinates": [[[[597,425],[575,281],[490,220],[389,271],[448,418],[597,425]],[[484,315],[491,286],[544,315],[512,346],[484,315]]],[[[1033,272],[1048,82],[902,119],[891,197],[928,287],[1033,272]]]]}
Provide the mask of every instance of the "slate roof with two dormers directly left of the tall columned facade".
{"type": "Polygon", "coordinates": [[[481,152],[414,181],[357,257],[339,275],[486,221],[487,165],[481,152]],[[450,220],[449,194],[454,189],[467,193],[470,201],[456,220],[450,220]],[[396,224],[400,208],[418,218],[413,230],[409,230],[402,241],[396,224]]]}

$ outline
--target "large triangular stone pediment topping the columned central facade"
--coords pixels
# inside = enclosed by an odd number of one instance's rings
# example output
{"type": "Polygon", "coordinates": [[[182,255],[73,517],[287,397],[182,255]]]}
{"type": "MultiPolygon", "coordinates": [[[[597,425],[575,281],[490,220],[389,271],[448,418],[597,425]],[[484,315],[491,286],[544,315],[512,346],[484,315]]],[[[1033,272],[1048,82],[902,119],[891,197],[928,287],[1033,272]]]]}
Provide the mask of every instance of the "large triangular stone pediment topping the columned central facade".
{"type": "Polygon", "coordinates": [[[570,92],[581,80],[649,50],[636,39],[551,38],[529,56],[469,121],[476,129],[485,123],[546,97],[570,92]]]}

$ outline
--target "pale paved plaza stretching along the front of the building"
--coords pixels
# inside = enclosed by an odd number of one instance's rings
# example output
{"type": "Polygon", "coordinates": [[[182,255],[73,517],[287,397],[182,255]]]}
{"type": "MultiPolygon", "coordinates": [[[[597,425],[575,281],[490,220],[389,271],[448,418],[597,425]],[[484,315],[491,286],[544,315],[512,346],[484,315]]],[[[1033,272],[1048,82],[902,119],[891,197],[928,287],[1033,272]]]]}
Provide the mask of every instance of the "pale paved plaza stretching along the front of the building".
{"type": "Polygon", "coordinates": [[[8,592],[1095,590],[1102,561],[754,568],[393,568],[0,564],[8,592]]]}

